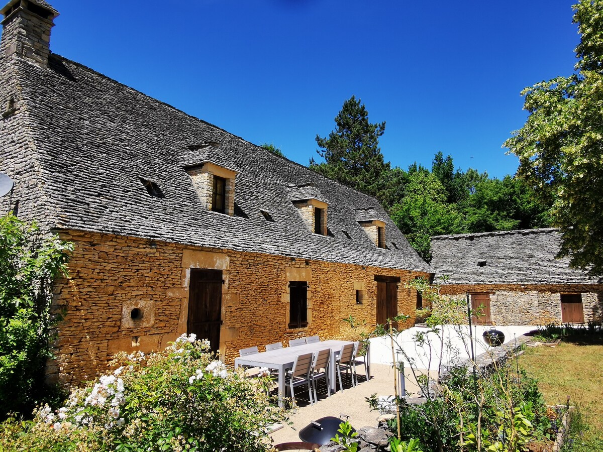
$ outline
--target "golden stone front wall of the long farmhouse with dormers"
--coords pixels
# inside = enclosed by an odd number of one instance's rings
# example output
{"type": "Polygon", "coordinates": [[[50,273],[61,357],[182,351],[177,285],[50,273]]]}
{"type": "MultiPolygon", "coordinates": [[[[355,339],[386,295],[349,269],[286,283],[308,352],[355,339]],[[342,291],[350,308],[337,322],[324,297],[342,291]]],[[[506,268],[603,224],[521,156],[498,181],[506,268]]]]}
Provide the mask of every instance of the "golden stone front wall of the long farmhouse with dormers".
{"type": "MultiPolygon", "coordinates": [[[[48,372],[81,381],[103,371],[118,351],[164,348],[186,332],[191,268],[223,271],[220,354],[228,363],[240,348],[294,337],[333,337],[353,315],[376,320],[374,275],[399,276],[399,312],[414,314],[416,293],[404,283],[420,275],[260,253],[191,248],[148,239],[60,231],[74,242],[69,279],[55,281],[54,309],[65,313],[58,328],[57,360],[48,372]],[[306,328],[288,328],[289,281],[308,282],[306,328]],[[362,289],[362,304],[356,290],[362,289]],[[139,320],[131,318],[139,309],[139,320]]],[[[406,327],[414,324],[410,319],[406,327]]]]}

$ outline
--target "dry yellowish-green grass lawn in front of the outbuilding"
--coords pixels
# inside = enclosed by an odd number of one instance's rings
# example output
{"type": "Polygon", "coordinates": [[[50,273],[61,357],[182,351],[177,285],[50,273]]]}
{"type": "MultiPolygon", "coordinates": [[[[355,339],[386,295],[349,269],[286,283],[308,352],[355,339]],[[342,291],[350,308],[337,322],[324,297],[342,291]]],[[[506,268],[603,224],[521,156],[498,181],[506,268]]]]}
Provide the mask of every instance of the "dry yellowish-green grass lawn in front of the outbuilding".
{"type": "MultiPolygon", "coordinates": [[[[599,334],[600,336],[600,334],[599,334]]],[[[526,347],[520,365],[538,378],[538,387],[548,404],[579,407],[588,425],[575,439],[576,452],[603,451],[603,340],[563,339],[556,347],[526,347]]]]}

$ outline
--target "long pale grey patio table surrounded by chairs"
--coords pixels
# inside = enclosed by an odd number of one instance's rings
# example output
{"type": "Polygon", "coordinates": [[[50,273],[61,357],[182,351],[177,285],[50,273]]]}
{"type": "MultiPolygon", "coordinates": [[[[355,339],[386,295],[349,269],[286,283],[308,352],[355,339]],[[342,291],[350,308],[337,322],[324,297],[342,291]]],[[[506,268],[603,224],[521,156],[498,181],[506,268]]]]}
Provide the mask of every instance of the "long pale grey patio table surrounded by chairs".
{"type": "Polygon", "coordinates": [[[329,361],[329,385],[331,392],[335,392],[335,357],[338,356],[341,347],[353,344],[349,341],[320,341],[314,344],[298,345],[297,347],[279,348],[277,350],[264,351],[244,357],[235,358],[235,369],[239,366],[267,367],[279,371],[279,406],[283,406],[283,394],[285,394],[285,372],[293,368],[295,357],[304,353],[314,353],[325,348],[331,349],[329,361]]]}

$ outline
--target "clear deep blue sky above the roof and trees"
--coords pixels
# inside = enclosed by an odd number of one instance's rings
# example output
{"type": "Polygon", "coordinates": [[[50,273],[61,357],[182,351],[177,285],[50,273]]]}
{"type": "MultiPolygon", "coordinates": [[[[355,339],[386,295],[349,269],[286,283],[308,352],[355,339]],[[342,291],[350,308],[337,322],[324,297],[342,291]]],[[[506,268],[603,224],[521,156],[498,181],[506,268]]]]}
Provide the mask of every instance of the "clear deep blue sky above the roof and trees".
{"type": "Polygon", "coordinates": [[[519,93],[573,71],[574,0],[49,0],[51,49],[295,162],[344,100],[386,121],[385,160],[503,177],[519,93]]]}

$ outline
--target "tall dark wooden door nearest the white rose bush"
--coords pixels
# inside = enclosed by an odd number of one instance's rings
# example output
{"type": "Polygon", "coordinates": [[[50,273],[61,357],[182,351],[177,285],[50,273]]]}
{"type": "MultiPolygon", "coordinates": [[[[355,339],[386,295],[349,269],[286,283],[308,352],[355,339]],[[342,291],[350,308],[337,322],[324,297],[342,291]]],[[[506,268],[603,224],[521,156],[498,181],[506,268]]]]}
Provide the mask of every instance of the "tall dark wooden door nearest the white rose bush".
{"type": "Polygon", "coordinates": [[[220,348],[222,271],[191,268],[186,332],[209,339],[212,351],[220,348]]]}

